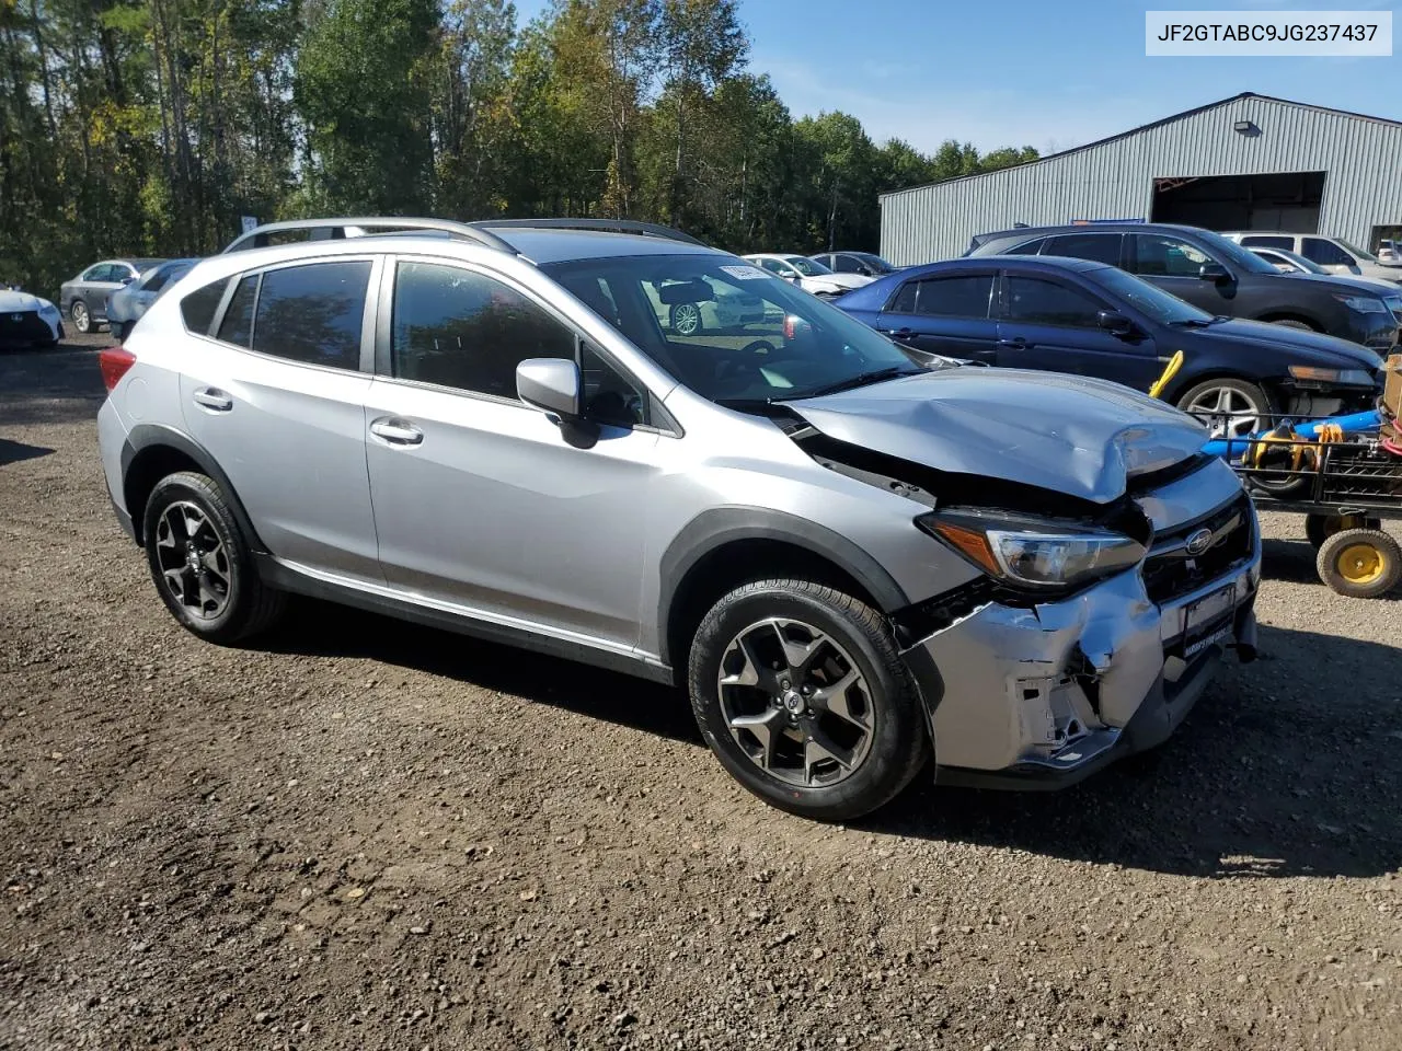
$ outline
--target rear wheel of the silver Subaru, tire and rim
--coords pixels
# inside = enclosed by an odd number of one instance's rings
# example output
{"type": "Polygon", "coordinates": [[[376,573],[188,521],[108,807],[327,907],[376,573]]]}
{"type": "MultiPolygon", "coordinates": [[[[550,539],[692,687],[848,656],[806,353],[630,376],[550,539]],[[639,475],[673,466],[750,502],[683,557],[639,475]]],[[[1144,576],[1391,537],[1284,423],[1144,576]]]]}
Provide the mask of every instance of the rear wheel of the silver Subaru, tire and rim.
{"type": "Polygon", "coordinates": [[[286,596],[258,577],[248,540],[213,478],[181,471],[157,482],[142,537],[165,608],[199,638],[233,643],[282,614],[286,596]]]}

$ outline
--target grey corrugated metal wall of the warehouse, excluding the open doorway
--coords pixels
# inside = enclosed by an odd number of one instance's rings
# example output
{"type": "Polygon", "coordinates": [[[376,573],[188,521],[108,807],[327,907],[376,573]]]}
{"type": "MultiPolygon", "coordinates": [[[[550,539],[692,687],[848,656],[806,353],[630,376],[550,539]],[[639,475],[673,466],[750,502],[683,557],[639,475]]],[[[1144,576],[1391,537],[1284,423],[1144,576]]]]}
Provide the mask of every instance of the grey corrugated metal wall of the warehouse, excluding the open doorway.
{"type": "Polygon", "coordinates": [[[1319,233],[1368,247],[1402,224],[1402,125],[1267,98],[1221,105],[1044,161],[882,195],[880,251],[949,259],[974,234],[1077,219],[1150,219],[1155,178],[1323,171],[1319,233]],[[1232,130],[1251,121],[1259,136],[1232,130]]]}

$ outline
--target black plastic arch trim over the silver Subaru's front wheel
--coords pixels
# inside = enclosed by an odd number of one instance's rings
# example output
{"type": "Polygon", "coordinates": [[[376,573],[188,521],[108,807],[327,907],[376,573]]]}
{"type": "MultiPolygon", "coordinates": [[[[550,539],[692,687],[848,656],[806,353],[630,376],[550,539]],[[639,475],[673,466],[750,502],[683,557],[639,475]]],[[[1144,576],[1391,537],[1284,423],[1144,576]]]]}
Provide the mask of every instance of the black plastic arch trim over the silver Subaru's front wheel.
{"type": "Polygon", "coordinates": [[[672,663],[669,629],[673,604],[687,573],[711,552],[746,540],[780,541],[831,562],[865,587],[885,614],[910,604],[900,584],[875,558],[826,526],[761,507],[712,507],[688,521],[662,554],[658,568],[658,645],[663,663],[672,663]]]}

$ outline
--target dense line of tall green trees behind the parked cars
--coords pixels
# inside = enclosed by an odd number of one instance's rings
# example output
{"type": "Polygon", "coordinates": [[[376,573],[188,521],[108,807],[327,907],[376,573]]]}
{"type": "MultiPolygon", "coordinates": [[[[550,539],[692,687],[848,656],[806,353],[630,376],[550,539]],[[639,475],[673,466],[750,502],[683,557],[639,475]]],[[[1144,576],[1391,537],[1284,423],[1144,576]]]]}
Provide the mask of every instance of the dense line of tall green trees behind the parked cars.
{"type": "Polygon", "coordinates": [[[1035,158],[794,119],[736,0],[0,0],[0,282],[314,214],[596,216],[875,249],[878,195],[1035,158]]]}

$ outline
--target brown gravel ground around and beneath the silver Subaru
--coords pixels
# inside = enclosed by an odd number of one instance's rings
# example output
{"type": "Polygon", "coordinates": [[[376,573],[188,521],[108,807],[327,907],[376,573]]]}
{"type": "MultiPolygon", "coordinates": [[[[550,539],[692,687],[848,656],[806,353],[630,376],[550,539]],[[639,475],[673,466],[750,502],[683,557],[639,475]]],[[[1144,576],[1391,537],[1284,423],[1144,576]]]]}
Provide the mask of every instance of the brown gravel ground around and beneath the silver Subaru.
{"type": "Polygon", "coordinates": [[[1300,520],[1159,753],[826,827],[658,687],[313,603],[178,629],[102,342],[0,356],[0,1048],[1402,1047],[1402,607],[1300,520]]]}

